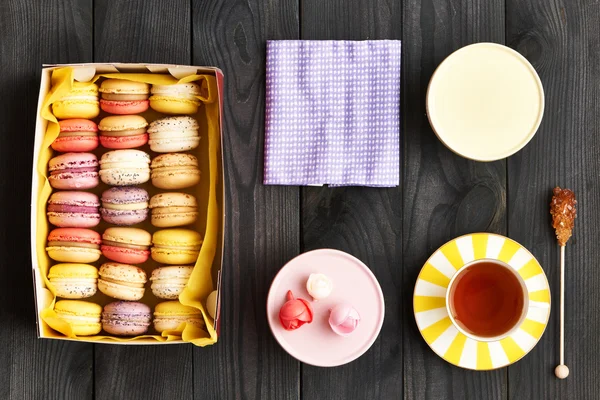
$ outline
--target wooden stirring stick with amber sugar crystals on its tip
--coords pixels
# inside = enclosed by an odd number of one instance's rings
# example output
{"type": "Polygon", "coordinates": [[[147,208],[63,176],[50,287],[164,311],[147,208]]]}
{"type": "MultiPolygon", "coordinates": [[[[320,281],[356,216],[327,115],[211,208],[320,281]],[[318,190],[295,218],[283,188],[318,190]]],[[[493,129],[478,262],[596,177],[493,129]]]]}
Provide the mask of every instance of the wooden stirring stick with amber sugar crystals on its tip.
{"type": "Polygon", "coordinates": [[[569,368],[565,365],[565,247],[573,234],[577,210],[575,193],[569,189],[554,188],[550,203],[552,227],[556,231],[556,239],[560,246],[560,364],[554,369],[556,377],[565,379],[569,376],[569,368]]]}

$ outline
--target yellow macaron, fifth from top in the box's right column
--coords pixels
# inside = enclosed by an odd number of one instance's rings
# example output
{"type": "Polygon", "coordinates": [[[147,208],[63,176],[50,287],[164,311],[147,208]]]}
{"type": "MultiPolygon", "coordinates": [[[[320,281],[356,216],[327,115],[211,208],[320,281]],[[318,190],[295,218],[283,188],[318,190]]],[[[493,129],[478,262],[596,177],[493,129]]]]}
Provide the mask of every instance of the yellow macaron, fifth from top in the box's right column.
{"type": "Polygon", "coordinates": [[[162,264],[193,264],[202,247],[202,235],[191,229],[162,229],[152,235],[152,258],[162,264]]]}

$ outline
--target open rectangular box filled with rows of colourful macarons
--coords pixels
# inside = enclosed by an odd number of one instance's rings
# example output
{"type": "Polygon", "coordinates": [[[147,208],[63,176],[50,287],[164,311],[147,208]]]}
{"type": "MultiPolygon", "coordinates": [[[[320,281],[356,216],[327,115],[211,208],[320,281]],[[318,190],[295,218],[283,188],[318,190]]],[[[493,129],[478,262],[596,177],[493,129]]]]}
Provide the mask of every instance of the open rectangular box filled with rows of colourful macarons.
{"type": "Polygon", "coordinates": [[[40,337],[217,341],[222,80],[212,67],[43,69],[31,235],[40,337]]]}

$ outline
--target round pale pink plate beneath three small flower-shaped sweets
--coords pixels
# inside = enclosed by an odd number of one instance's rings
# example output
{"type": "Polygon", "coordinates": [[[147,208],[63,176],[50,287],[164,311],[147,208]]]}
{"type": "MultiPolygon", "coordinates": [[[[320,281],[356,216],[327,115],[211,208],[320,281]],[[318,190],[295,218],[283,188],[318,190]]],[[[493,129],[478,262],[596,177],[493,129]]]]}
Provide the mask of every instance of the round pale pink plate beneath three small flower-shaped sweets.
{"type": "Polygon", "coordinates": [[[363,355],[375,342],[385,314],[381,287],[371,270],[356,257],[339,250],[319,249],[299,255],[277,274],[267,298],[267,319],[273,336],[292,357],[318,367],[335,367],[363,355]],[[313,301],[306,291],[312,273],[325,274],[333,291],[325,299],[313,301]],[[286,331],[279,310],[291,290],[296,298],[311,303],[313,321],[294,331],[286,331]],[[350,335],[337,335],[329,326],[329,310],[340,303],[351,304],[360,323],[350,335]]]}

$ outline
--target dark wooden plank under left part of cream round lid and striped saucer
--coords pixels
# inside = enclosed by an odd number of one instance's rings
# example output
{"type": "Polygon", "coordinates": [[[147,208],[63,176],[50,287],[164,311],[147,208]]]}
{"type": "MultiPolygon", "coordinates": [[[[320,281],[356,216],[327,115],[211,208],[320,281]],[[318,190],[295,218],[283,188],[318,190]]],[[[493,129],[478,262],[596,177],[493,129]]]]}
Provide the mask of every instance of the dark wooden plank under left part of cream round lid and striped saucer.
{"type": "Polygon", "coordinates": [[[465,233],[506,233],[505,162],[478,163],[453,154],[425,114],[427,84],[446,56],[474,42],[504,41],[504,1],[403,4],[404,397],[505,398],[506,370],[471,372],[450,365],[421,338],[412,308],[417,275],[440,245],[465,233]]]}

